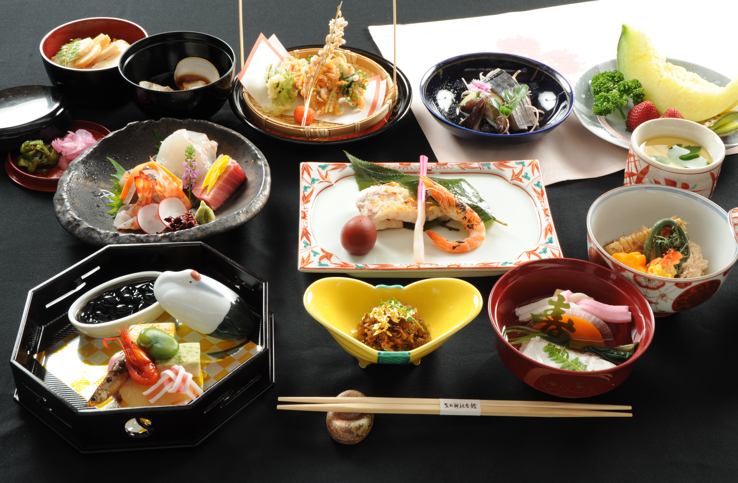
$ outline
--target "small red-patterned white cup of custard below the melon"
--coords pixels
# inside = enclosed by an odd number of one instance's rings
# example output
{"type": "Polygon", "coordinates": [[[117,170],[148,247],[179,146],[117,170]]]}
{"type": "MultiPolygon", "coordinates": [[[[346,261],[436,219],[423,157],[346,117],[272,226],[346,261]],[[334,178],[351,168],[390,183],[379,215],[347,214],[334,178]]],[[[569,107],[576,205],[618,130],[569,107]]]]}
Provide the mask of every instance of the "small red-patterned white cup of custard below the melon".
{"type": "Polygon", "coordinates": [[[672,117],[649,120],[635,128],[630,137],[623,184],[673,186],[711,198],[724,158],[723,140],[705,126],[672,117]],[[681,137],[698,143],[710,152],[712,162],[701,168],[681,168],[653,160],[644,153],[641,145],[662,136],[681,137]]]}

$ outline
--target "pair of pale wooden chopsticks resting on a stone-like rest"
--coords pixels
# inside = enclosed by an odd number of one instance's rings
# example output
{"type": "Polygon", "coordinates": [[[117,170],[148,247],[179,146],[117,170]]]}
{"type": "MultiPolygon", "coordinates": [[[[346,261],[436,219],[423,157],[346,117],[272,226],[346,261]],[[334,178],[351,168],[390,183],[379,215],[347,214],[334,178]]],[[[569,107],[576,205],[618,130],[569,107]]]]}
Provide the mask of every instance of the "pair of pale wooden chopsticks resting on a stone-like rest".
{"type": "MultiPolygon", "coordinates": [[[[345,397],[279,397],[280,402],[306,402],[314,404],[348,404],[345,397]]],[[[351,397],[351,403],[365,404],[416,404],[434,405],[439,408],[440,400],[421,397],[351,397]]],[[[556,408],[556,409],[582,409],[591,411],[630,411],[631,406],[612,404],[587,404],[583,402],[549,402],[549,401],[497,401],[480,400],[482,408],[486,407],[508,407],[508,408],[556,408]]],[[[332,411],[332,410],[328,410],[332,411]]],[[[376,411],[375,411],[376,412],[376,411]]],[[[438,413],[436,413],[438,414],[438,413]]]]}

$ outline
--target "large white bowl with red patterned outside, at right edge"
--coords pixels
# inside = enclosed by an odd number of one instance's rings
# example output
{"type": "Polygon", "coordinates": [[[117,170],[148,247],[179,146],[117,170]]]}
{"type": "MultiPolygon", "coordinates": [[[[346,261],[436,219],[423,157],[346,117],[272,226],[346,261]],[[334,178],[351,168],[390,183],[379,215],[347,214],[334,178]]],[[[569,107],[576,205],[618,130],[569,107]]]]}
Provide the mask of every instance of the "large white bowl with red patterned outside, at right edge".
{"type": "Polygon", "coordinates": [[[590,261],[620,273],[641,290],[654,314],[669,315],[707,301],[738,260],[738,208],[723,208],[692,191],[663,185],[630,185],[600,196],[587,213],[590,261]],[[615,261],[603,248],[642,225],[651,227],[677,215],[687,222],[689,240],[702,248],[707,274],[696,278],[665,278],[634,270],[615,261]]]}

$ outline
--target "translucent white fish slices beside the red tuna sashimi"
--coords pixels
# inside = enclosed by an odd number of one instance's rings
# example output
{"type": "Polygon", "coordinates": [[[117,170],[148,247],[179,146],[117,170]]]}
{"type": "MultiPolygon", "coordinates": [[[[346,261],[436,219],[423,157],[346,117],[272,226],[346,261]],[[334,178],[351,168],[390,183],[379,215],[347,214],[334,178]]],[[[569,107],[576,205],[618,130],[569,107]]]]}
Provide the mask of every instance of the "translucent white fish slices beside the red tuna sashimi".
{"type": "Polygon", "coordinates": [[[171,171],[176,177],[184,175],[184,150],[188,145],[195,148],[195,160],[199,174],[197,180],[201,180],[210,166],[213,165],[218,151],[218,143],[207,138],[206,134],[187,129],[179,129],[170,134],[159,147],[156,162],[171,171]]]}

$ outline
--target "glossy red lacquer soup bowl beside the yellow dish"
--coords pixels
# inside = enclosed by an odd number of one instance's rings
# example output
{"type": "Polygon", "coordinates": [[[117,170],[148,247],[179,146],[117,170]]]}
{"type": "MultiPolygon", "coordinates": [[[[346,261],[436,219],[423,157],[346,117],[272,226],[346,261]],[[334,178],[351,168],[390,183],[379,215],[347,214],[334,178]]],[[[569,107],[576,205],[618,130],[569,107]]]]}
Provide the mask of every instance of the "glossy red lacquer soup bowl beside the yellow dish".
{"type": "Polygon", "coordinates": [[[497,335],[495,345],[503,363],[533,388],[560,397],[588,397],[620,385],[633,364],[653,340],[654,317],[651,307],[629,281],[612,270],[576,258],[551,258],[531,261],[500,277],[489,294],[489,320],[497,335]],[[603,371],[566,371],[545,366],[525,357],[503,338],[506,326],[519,325],[515,309],[523,304],[554,294],[556,289],[584,292],[603,304],[627,305],[631,323],[608,323],[615,343],[640,342],[627,362],[603,371]]]}

